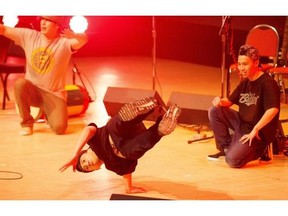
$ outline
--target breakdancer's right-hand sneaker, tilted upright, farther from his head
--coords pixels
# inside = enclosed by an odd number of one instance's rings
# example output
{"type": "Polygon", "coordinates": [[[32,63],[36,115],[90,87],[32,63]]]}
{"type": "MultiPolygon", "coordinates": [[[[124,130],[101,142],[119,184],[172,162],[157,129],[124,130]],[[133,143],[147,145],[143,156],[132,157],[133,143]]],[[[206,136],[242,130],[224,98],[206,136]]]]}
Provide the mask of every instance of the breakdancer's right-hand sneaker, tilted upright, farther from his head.
{"type": "Polygon", "coordinates": [[[165,136],[172,133],[177,126],[177,120],[180,114],[181,108],[176,104],[172,104],[158,125],[158,134],[165,136]]]}

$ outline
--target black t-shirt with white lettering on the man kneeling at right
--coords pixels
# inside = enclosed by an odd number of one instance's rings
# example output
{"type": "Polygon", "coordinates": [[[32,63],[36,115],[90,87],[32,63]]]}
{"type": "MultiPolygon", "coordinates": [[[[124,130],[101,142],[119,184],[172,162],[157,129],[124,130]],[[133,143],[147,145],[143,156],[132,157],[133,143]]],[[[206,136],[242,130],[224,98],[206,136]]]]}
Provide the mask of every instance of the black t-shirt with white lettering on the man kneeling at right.
{"type": "MultiPolygon", "coordinates": [[[[280,110],[280,89],[269,74],[264,73],[255,81],[247,78],[239,83],[228,99],[239,106],[239,115],[245,133],[250,133],[266,110],[280,110]]],[[[265,127],[260,130],[264,142],[274,140],[278,126],[279,112],[265,127]]]]}

